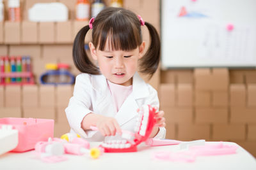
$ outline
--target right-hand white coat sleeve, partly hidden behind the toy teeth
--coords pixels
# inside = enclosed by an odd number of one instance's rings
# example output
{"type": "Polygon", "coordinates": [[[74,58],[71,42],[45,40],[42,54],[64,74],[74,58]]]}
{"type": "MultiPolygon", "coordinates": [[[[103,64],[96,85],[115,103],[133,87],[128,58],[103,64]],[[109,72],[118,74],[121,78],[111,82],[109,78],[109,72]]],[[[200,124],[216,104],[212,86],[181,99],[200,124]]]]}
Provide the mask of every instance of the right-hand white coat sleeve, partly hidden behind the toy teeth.
{"type": "MultiPolygon", "coordinates": [[[[159,108],[159,99],[157,96],[156,89],[154,89],[149,85],[149,92],[150,92],[150,96],[147,99],[147,103],[150,104],[151,106],[157,106],[157,108],[159,108]]],[[[159,127],[159,131],[154,138],[164,139],[165,136],[166,136],[166,129],[164,127],[159,127]]]]}

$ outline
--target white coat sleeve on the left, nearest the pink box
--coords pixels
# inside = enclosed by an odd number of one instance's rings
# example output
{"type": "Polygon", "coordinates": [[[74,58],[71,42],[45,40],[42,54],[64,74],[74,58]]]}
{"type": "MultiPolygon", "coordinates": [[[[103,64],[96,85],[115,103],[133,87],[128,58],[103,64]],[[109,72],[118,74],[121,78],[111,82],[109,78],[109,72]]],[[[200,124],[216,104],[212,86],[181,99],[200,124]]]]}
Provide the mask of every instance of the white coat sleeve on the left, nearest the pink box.
{"type": "Polygon", "coordinates": [[[65,109],[71,129],[84,138],[90,138],[96,133],[96,131],[84,132],[81,128],[83,118],[92,112],[89,109],[92,106],[90,97],[92,87],[90,82],[89,74],[79,74],[76,77],[73,96],[70,98],[68,107],[65,109]]]}

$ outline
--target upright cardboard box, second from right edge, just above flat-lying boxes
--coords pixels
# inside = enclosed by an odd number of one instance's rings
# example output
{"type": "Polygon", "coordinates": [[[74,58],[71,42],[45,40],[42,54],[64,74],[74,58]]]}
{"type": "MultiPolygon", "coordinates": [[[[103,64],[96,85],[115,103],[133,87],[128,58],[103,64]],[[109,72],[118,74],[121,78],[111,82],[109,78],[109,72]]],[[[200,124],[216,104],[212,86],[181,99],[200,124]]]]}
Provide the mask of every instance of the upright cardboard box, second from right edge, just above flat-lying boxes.
{"type": "Polygon", "coordinates": [[[230,106],[246,105],[246,89],[244,84],[230,85],[230,106]]]}

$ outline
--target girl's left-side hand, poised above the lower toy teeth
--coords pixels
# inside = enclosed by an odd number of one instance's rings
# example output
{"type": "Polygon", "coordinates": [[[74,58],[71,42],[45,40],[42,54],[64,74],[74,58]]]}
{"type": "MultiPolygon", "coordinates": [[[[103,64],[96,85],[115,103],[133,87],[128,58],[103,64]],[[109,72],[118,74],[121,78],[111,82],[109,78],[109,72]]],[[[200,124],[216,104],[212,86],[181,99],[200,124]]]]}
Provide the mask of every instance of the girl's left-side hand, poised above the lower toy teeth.
{"type": "Polygon", "coordinates": [[[100,117],[96,126],[103,136],[115,136],[116,132],[122,134],[120,125],[113,117],[100,117]]]}

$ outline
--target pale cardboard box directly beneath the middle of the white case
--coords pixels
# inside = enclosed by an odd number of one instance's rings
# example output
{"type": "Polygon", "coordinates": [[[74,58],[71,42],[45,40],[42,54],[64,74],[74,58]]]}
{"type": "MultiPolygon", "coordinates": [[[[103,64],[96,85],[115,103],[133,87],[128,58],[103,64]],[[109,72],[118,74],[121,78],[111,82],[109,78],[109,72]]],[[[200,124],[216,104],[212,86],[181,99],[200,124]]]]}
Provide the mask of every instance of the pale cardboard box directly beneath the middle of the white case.
{"type": "Polygon", "coordinates": [[[54,22],[39,22],[39,43],[55,43],[56,32],[54,22]]]}

